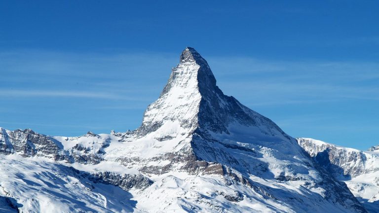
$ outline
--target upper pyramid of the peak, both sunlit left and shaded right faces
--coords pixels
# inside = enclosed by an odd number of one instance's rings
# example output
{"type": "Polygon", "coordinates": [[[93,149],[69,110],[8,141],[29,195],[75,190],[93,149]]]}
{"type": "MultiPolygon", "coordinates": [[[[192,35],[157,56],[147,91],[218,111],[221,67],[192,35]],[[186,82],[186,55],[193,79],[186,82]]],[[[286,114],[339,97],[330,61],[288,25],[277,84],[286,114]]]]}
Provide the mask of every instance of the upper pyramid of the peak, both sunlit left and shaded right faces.
{"type": "Polygon", "coordinates": [[[184,49],[159,98],[146,109],[137,133],[146,135],[168,123],[177,126],[178,131],[197,130],[205,135],[230,134],[234,131],[232,125],[254,126],[265,135],[288,140],[272,121],[224,95],[208,63],[191,47],[184,49]]]}

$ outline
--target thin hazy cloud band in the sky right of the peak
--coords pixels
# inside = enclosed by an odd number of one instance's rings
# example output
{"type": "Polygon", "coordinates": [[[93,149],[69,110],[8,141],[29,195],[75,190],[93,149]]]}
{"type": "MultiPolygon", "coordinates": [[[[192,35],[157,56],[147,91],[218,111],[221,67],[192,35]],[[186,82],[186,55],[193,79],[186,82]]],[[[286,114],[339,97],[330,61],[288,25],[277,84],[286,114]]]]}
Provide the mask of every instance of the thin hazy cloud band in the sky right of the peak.
{"type": "Polygon", "coordinates": [[[226,94],[248,106],[379,100],[379,63],[211,58],[226,94]]]}

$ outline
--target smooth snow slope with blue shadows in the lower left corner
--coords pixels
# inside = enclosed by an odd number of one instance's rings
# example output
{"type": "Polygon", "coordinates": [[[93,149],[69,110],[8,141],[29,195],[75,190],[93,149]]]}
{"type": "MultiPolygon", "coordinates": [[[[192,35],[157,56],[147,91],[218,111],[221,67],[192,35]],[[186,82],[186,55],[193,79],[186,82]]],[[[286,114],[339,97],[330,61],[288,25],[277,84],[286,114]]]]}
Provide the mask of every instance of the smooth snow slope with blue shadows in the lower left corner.
{"type": "MultiPolygon", "coordinates": [[[[16,154],[14,154],[16,155],[16,154]]],[[[25,213],[127,213],[132,195],[119,187],[80,178],[70,167],[46,159],[0,155],[0,196],[25,213]]]]}

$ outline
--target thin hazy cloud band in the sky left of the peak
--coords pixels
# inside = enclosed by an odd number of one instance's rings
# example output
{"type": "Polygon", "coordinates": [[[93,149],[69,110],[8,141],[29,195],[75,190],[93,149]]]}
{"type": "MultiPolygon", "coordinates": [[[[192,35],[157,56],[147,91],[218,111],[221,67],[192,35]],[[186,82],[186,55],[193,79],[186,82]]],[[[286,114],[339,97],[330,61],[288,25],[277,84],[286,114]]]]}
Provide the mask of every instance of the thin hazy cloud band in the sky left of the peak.
{"type": "Polygon", "coordinates": [[[129,101],[130,105],[152,101],[163,88],[174,61],[161,53],[43,50],[2,51],[0,58],[0,97],[108,99],[129,101]]]}

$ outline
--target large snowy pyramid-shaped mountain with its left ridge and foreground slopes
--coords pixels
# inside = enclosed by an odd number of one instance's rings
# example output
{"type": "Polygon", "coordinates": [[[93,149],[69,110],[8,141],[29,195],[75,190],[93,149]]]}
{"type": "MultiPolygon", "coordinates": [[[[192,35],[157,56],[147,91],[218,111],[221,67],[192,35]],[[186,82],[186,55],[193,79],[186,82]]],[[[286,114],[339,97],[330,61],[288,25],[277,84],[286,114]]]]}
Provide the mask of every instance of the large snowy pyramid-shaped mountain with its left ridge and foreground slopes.
{"type": "Polygon", "coordinates": [[[21,212],[367,212],[296,139],[224,95],[190,47],[134,131],[0,134],[0,196],[21,212]]]}

